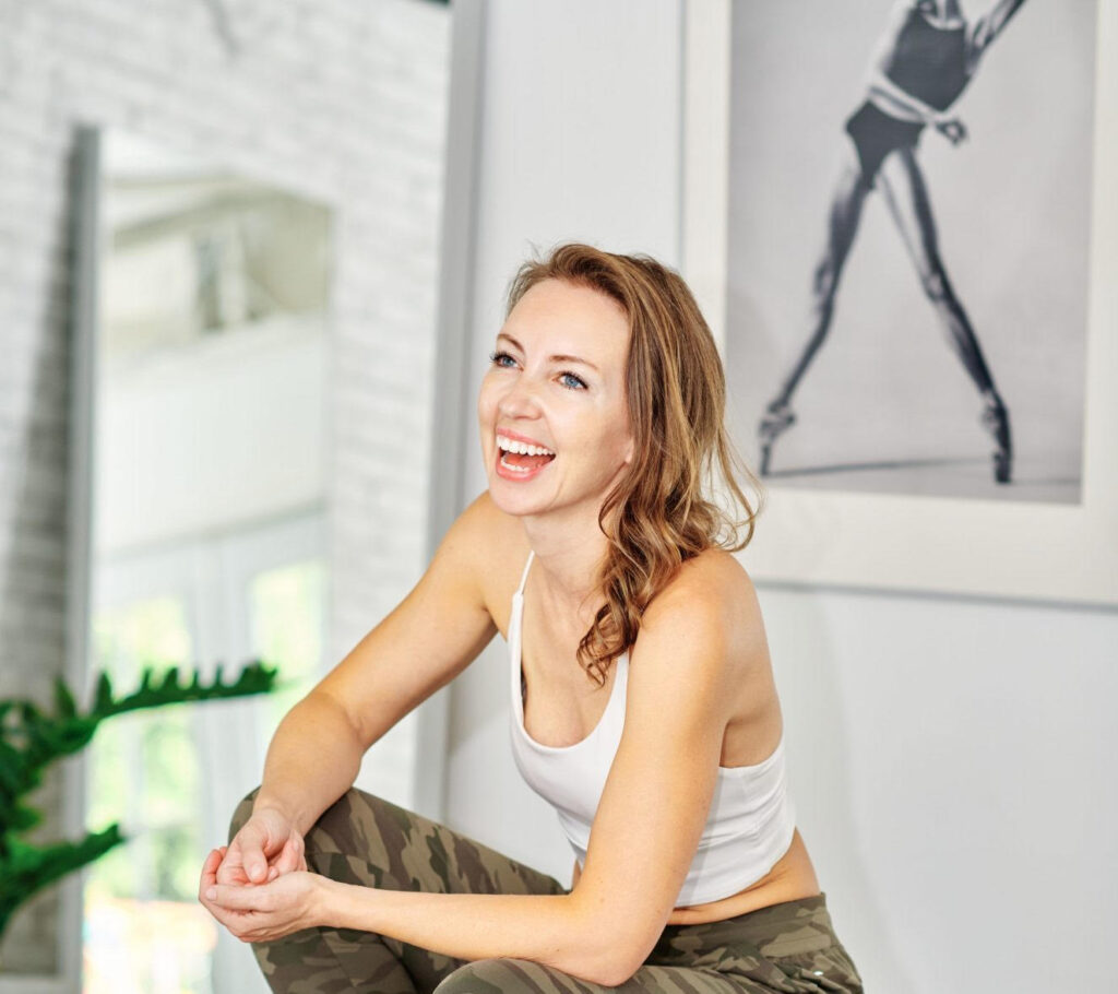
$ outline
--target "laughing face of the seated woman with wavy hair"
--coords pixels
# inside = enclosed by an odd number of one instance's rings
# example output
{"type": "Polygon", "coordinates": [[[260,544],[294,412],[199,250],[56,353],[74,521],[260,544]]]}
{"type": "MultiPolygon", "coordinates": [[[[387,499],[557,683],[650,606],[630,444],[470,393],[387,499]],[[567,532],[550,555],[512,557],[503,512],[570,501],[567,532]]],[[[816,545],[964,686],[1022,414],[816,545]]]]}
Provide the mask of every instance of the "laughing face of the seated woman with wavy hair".
{"type": "Polygon", "coordinates": [[[513,307],[477,399],[490,494],[503,511],[597,514],[633,460],[628,339],[625,312],[587,286],[546,280],[513,307]]]}

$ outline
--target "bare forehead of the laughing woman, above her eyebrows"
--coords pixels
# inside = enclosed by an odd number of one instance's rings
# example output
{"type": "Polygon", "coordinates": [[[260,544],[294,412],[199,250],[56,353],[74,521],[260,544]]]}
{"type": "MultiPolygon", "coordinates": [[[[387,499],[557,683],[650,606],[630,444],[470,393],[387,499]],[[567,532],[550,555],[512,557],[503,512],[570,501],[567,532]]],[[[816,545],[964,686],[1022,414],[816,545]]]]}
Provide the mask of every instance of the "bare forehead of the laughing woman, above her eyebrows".
{"type": "Polygon", "coordinates": [[[544,280],[529,290],[512,309],[503,331],[525,349],[624,358],[628,348],[628,318],[612,296],[580,284],[544,280]],[[578,351],[581,350],[581,351],[578,351]]]}

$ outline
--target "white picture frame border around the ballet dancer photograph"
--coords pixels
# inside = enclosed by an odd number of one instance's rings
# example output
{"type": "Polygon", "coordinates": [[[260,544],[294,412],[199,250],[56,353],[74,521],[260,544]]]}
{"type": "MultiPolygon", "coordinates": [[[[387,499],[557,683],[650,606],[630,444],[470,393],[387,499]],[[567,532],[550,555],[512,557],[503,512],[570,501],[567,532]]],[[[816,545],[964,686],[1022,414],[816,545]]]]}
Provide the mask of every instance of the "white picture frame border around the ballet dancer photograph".
{"type": "MultiPolygon", "coordinates": [[[[682,271],[726,341],[731,0],[685,0],[682,271]]],[[[1118,606],[1118,6],[1098,4],[1082,500],[1044,504],[766,482],[741,553],[773,583],[1118,606]]],[[[732,384],[730,385],[732,390],[732,384]]]]}

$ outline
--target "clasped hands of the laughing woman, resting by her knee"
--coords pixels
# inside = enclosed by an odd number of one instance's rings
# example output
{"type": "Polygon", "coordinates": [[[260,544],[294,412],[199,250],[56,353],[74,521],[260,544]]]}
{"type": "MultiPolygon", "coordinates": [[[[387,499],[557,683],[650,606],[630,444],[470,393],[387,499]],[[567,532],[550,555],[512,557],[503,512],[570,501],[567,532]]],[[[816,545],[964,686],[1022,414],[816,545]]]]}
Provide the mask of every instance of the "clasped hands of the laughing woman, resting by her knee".
{"type": "Polygon", "coordinates": [[[329,881],[307,871],[303,836],[277,811],[254,812],[202,864],[198,900],[245,943],[324,925],[329,881]]]}

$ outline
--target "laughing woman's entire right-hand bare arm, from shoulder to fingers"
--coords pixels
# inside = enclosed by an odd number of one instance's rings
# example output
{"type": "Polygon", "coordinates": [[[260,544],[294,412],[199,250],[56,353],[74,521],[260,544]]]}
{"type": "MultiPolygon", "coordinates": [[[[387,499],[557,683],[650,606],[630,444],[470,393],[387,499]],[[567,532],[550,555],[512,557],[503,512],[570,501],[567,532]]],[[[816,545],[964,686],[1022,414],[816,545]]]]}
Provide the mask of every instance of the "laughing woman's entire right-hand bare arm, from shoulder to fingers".
{"type": "MultiPolygon", "coordinates": [[[[570,893],[391,891],[292,873],[264,887],[214,887],[207,900],[215,913],[250,941],[324,925],[455,958],[523,958],[594,983],[624,983],[663,931],[705,824],[740,690],[728,653],[750,651],[727,632],[749,628],[750,638],[762,638],[759,626],[740,623],[742,579],[728,576],[723,564],[690,584],[673,581],[645,612],[622,741],[570,893]],[[235,909],[248,917],[238,924],[235,909]]],[[[203,874],[203,894],[209,886],[203,874]]]]}

